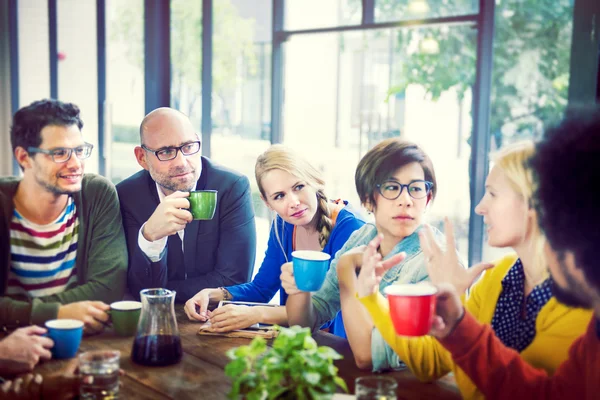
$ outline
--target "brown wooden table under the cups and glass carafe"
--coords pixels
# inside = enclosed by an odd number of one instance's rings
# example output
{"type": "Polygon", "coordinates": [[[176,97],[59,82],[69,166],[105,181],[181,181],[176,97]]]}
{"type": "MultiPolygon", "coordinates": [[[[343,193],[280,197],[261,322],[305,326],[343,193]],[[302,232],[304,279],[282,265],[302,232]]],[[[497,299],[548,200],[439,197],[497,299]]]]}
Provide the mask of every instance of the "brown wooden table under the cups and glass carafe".
{"type": "MultiPolygon", "coordinates": [[[[187,319],[182,305],[176,305],[176,314],[184,353],[179,364],[168,367],[134,364],[130,359],[133,338],[118,337],[111,330],[84,338],[80,351],[113,349],[121,352],[121,368],[125,370],[125,376],[121,377],[123,399],[225,399],[231,387],[231,381],[223,371],[229,362],[225,352],[248,344],[250,340],[199,336],[199,324],[187,319]]],[[[348,342],[326,332],[317,332],[314,338],[320,345],[330,346],[344,356],[336,365],[350,393],[354,393],[354,379],[371,374],[356,367],[348,342]]],[[[67,362],[43,363],[35,372],[53,372],[67,362]]],[[[398,399],[460,399],[452,378],[421,383],[409,371],[390,375],[398,381],[398,399]]]]}

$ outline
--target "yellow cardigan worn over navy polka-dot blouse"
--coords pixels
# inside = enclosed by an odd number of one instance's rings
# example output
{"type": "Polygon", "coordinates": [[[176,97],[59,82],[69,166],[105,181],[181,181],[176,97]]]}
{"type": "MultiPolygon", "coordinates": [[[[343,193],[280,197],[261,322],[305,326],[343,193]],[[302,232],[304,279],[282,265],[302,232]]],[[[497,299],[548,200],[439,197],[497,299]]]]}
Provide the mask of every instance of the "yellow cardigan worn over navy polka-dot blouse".
{"type": "MultiPolygon", "coordinates": [[[[516,255],[502,258],[471,289],[465,308],[479,322],[491,324],[502,291],[502,279],[516,260],[516,255]]],[[[388,302],[379,292],[362,297],[360,301],[371,314],[385,341],[417,378],[427,382],[454,372],[463,398],[483,398],[469,377],[454,364],[450,353],[433,337],[396,336],[388,302]]],[[[535,338],[521,352],[521,356],[529,364],[553,373],[567,359],[571,343],[585,332],[591,317],[591,311],[566,307],[552,297],[538,313],[535,338]]]]}

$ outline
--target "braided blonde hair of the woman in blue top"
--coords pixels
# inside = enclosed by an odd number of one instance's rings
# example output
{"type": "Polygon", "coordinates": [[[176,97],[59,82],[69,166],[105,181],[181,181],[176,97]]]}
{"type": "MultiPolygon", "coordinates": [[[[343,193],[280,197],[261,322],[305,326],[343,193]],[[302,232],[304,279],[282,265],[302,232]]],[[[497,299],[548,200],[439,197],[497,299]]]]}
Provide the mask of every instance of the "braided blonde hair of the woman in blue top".
{"type": "MultiPolygon", "coordinates": [[[[328,199],[325,195],[325,181],[323,180],[321,172],[310,165],[306,159],[292,149],[281,144],[274,144],[258,156],[256,166],[254,167],[256,183],[260,190],[260,194],[265,200],[267,199],[267,196],[265,195],[262,186],[262,178],[267,172],[275,169],[285,171],[288,174],[305,181],[307,185],[317,192],[317,231],[319,232],[319,244],[321,245],[321,248],[324,248],[331,235],[333,221],[331,220],[331,213],[328,207],[328,199]]],[[[277,218],[273,220],[275,236],[277,237],[279,246],[281,246],[281,249],[283,250],[281,238],[279,237],[279,230],[275,223],[276,220],[277,218]]],[[[285,255],[285,251],[283,253],[285,255]]]]}

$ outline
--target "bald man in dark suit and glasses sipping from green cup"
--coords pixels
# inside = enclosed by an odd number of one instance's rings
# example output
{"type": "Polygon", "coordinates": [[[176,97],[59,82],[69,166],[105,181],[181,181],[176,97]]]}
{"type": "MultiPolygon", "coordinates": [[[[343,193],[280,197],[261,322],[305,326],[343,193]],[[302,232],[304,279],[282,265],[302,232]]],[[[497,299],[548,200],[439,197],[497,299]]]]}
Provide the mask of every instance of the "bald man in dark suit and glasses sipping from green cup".
{"type": "Polygon", "coordinates": [[[140,125],[144,168],[117,185],[129,249],[128,287],[177,291],[185,302],[204,288],[247,282],[256,253],[248,178],[200,155],[183,113],[159,108],[140,125]],[[193,220],[189,192],[216,190],[213,219],[193,220]]]}

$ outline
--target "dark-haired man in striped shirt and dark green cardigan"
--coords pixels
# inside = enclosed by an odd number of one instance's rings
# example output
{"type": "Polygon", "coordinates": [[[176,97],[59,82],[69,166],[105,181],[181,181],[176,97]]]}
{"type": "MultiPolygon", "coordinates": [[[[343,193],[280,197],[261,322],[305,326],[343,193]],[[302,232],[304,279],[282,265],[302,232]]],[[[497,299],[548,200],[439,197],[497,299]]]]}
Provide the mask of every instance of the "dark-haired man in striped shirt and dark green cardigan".
{"type": "Polygon", "coordinates": [[[114,186],[84,175],[93,146],[79,108],[41,100],[17,111],[13,154],[22,177],[0,178],[0,326],[108,320],[126,286],[127,249],[114,186]]]}

